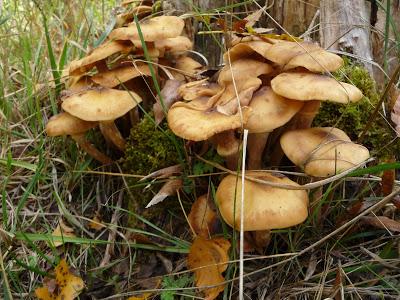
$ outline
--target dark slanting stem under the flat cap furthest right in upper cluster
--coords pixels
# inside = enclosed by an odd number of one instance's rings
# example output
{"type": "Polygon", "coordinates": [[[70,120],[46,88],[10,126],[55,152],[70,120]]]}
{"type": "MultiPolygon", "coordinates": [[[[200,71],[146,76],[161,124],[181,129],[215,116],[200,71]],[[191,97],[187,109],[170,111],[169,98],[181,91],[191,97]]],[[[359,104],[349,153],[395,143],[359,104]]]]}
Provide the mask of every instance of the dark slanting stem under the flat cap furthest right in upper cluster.
{"type": "MultiPolygon", "coordinates": [[[[305,102],[300,111],[292,118],[292,120],[290,120],[288,125],[283,130],[282,134],[285,133],[286,131],[293,129],[310,128],[320,107],[321,107],[321,101],[319,100],[311,100],[305,102]]],[[[271,166],[278,166],[282,160],[283,151],[281,144],[279,142],[274,143],[274,145],[275,146],[271,152],[270,163],[271,166]]]]}

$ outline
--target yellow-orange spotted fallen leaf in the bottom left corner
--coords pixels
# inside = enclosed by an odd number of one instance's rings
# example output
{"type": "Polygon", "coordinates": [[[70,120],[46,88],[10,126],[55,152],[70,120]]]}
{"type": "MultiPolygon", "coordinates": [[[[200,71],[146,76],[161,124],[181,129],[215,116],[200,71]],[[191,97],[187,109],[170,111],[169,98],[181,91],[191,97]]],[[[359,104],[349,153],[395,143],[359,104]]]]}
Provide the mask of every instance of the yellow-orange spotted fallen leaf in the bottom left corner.
{"type": "Polygon", "coordinates": [[[44,282],[43,287],[35,290],[41,300],[72,300],[79,296],[85,284],[82,278],[69,270],[67,262],[62,259],[55,268],[55,279],[44,282]]]}

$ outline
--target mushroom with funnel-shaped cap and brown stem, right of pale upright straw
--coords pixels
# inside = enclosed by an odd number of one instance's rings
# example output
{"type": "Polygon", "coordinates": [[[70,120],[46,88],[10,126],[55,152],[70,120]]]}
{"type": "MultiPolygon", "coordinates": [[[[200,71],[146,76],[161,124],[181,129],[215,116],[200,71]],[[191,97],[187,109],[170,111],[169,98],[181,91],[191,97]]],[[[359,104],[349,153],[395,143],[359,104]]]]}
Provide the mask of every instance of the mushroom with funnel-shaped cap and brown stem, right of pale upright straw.
{"type": "Polygon", "coordinates": [[[262,87],[251,102],[252,113],[244,125],[249,130],[248,168],[260,169],[262,154],[269,133],[287,123],[303,106],[301,101],[289,100],[262,87]]]}

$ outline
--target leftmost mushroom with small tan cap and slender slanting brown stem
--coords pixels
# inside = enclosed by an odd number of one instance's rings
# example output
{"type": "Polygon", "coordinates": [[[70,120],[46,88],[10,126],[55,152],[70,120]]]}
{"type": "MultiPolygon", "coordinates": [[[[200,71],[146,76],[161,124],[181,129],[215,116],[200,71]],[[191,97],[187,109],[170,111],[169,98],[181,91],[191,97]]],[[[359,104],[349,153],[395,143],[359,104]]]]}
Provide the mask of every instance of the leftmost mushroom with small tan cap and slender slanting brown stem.
{"type": "Polygon", "coordinates": [[[111,158],[96,149],[85,138],[85,133],[97,125],[97,122],[84,121],[69,113],[62,112],[50,118],[45,130],[48,136],[70,135],[91,157],[103,164],[110,164],[111,158]]]}

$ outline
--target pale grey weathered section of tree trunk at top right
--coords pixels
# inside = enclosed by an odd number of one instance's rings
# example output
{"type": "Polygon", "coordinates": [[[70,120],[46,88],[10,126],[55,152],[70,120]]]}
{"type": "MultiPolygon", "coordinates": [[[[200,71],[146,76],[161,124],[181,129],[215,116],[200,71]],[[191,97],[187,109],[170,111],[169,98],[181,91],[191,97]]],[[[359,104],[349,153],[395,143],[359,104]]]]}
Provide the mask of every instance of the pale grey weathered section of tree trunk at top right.
{"type": "Polygon", "coordinates": [[[369,28],[365,0],[321,0],[322,47],[353,54],[372,74],[369,28]]]}

